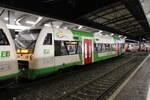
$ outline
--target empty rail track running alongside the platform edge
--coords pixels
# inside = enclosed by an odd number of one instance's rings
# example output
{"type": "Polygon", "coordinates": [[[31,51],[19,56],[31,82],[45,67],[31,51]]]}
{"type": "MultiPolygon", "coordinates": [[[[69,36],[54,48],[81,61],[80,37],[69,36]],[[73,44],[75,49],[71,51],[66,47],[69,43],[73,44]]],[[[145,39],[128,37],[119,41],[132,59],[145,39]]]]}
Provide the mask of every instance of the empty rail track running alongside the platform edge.
{"type": "Polygon", "coordinates": [[[138,67],[140,56],[128,59],[122,65],[56,100],[106,100],[114,90],[138,67]]]}

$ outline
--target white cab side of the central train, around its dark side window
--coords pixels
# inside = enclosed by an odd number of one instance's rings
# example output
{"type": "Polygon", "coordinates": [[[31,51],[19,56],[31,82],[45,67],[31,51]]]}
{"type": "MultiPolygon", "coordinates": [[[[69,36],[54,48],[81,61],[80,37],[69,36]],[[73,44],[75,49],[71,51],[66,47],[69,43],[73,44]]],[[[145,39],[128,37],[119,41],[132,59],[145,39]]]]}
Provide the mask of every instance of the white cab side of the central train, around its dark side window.
{"type": "Polygon", "coordinates": [[[54,66],[54,41],[52,40],[52,45],[43,45],[47,33],[53,33],[53,30],[45,27],[39,34],[35,45],[33,60],[31,65],[29,65],[31,69],[54,66]],[[47,53],[44,53],[46,51],[47,53]]]}

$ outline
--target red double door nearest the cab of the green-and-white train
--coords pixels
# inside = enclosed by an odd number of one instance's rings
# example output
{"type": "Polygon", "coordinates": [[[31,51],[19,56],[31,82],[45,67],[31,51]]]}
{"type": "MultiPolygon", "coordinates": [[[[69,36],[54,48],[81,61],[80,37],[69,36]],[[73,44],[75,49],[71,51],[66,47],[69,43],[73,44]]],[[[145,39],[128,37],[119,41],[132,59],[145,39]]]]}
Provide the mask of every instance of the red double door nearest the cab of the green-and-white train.
{"type": "Polygon", "coordinates": [[[92,40],[84,39],[84,64],[92,63],[92,40]]]}

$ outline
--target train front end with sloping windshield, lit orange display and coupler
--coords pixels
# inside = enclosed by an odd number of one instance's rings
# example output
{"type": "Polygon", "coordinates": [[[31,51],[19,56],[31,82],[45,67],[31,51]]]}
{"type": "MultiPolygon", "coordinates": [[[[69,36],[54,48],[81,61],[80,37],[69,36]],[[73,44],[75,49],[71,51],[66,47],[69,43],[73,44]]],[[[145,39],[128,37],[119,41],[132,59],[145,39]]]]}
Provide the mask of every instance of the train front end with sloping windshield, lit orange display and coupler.
{"type": "Polygon", "coordinates": [[[29,69],[32,66],[32,58],[35,56],[34,48],[39,33],[40,29],[24,30],[15,39],[17,60],[23,78],[29,77],[29,69]]]}

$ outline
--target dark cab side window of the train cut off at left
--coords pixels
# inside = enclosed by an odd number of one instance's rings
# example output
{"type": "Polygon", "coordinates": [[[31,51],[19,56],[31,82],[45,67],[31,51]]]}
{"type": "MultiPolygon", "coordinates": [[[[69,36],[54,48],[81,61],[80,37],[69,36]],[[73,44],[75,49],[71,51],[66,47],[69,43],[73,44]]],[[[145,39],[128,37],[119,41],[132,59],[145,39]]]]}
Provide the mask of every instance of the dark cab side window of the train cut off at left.
{"type": "Polygon", "coordinates": [[[0,45],[9,45],[8,39],[2,29],[0,29],[0,45]]]}

